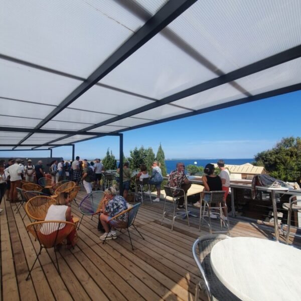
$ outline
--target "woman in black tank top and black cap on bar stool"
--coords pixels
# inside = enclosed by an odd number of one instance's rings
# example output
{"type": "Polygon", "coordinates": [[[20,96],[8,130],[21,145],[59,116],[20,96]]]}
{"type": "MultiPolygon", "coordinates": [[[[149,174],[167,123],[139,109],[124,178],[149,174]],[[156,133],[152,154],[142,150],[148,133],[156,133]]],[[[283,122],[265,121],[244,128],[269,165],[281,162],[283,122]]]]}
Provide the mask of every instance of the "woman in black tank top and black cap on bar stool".
{"type": "MultiPolygon", "coordinates": [[[[222,190],[222,180],[219,176],[214,174],[214,165],[213,164],[207,164],[204,169],[204,173],[207,174],[206,176],[202,177],[203,185],[205,187],[204,191],[221,191],[222,190]]],[[[208,202],[208,198],[210,196],[208,194],[205,195],[204,192],[202,192],[202,199],[205,202],[208,202]],[[205,198],[204,198],[205,196],[205,198]]],[[[195,207],[201,206],[200,201],[193,204],[195,207]]],[[[211,218],[216,218],[216,215],[211,215],[211,218]]]]}

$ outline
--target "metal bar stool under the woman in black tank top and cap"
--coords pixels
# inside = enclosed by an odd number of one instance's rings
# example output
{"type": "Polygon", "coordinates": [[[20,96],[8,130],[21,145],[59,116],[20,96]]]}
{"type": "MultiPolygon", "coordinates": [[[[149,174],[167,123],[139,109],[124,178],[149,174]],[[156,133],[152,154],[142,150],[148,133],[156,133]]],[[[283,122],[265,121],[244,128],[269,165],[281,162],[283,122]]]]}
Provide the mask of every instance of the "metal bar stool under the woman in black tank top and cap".
{"type": "Polygon", "coordinates": [[[201,206],[200,206],[200,223],[199,223],[199,230],[201,230],[202,220],[205,221],[209,226],[210,234],[212,233],[229,233],[230,234],[230,224],[229,219],[225,221],[225,216],[223,214],[223,209],[227,208],[226,202],[224,202],[224,191],[206,191],[204,197],[204,210],[202,216],[202,197],[201,197],[201,206]],[[223,205],[222,205],[223,204],[223,205]],[[205,210],[207,209],[208,215],[205,215],[205,210]],[[211,214],[213,210],[218,210],[214,212],[214,214],[219,215],[220,217],[220,225],[221,231],[212,231],[212,224],[211,224],[211,214]],[[208,222],[205,220],[205,216],[208,217],[208,222]],[[227,230],[223,230],[223,226],[227,228],[227,230]]]}

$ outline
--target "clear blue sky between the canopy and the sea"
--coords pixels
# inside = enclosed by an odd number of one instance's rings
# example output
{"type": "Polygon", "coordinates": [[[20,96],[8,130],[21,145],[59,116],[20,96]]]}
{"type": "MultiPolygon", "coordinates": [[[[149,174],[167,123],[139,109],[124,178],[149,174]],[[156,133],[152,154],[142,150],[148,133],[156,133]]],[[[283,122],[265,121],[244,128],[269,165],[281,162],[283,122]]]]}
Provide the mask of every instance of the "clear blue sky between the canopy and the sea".
{"type": "MultiPolygon", "coordinates": [[[[135,146],[161,142],[167,159],[253,158],[282,137],[301,135],[301,91],[165,122],[123,133],[124,155],[135,146]]],[[[119,138],[102,137],[75,144],[82,159],[102,159],[107,148],[119,158],[119,138]]],[[[49,157],[50,152],[2,152],[2,157],[49,157]]],[[[53,149],[53,157],[71,159],[72,147],[53,149]]]]}

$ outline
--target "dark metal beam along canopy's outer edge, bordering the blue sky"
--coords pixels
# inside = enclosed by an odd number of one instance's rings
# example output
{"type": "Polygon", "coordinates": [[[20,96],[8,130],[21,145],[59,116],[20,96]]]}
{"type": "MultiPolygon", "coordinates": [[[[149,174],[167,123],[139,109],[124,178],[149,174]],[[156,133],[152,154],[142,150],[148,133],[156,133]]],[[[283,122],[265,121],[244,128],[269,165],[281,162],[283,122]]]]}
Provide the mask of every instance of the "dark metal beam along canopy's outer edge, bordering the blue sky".
{"type": "Polygon", "coordinates": [[[169,118],[164,118],[164,119],[161,119],[161,120],[158,120],[158,121],[152,121],[152,122],[149,122],[149,123],[143,123],[143,124],[140,124],[140,125],[137,125],[137,126],[132,126],[132,127],[126,128],[126,129],[119,130],[119,132],[124,132],[124,131],[132,130],[132,129],[141,128],[141,127],[144,127],[144,126],[150,126],[150,125],[155,125],[155,124],[159,124],[159,123],[163,123],[163,122],[168,122],[168,121],[172,121],[172,120],[176,120],[176,119],[180,119],[180,118],[199,115],[199,114],[203,114],[203,113],[207,113],[207,112],[211,112],[211,111],[215,111],[215,110],[228,108],[228,107],[235,106],[235,105],[240,105],[240,104],[244,104],[244,103],[248,103],[248,102],[252,102],[252,101],[256,101],[256,100],[261,100],[261,99],[264,99],[264,98],[269,98],[269,97],[274,97],[274,96],[278,96],[278,95],[281,95],[281,94],[295,92],[295,91],[298,91],[298,90],[301,90],[301,83],[291,85],[291,86],[288,86],[288,87],[284,87],[284,88],[280,88],[280,89],[271,90],[271,91],[256,94],[256,95],[252,95],[252,96],[248,96],[248,97],[243,97],[243,98],[240,98],[240,99],[237,99],[237,100],[233,100],[233,101],[229,101],[229,102],[226,102],[226,103],[221,103],[221,104],[218,104],[218,105],[207,107],[207,108],[204,108],[204,109],[196,110],[194,112],[184,113],[184,114],[181,114],[181,115],[177,115],[177,116],[173,116],[173,117],[169,117],[169,118]]]}

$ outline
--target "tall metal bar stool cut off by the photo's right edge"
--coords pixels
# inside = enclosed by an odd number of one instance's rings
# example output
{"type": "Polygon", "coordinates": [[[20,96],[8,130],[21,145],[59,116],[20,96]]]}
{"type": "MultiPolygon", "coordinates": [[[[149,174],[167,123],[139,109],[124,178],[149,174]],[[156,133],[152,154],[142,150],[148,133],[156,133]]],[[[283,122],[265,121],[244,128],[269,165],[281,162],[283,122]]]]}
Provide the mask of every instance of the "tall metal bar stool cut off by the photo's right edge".
{"type": "Polygon", "coordinates": [[[286,242],[286,244],[288,244],[289,235],[301,237],[300,234],[290,233],[291,228],[296,229],[296,230],[300,229],[299,227],[291,227],[290,223],[291,223],[291,214],[292,214],[292,212],[301,213],[301,195],[291,196],[288,199],[288,203],[283,203],[282,204],[282,208],[288,211],[288,213],[287,213],[287,224],[282,224],[281,225],[281,230],[285,235],[285,242],[286,242]],[[286,226],[286,231],[284,230],[285,226],[286,226]]]}

